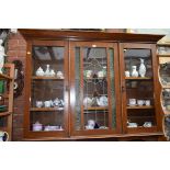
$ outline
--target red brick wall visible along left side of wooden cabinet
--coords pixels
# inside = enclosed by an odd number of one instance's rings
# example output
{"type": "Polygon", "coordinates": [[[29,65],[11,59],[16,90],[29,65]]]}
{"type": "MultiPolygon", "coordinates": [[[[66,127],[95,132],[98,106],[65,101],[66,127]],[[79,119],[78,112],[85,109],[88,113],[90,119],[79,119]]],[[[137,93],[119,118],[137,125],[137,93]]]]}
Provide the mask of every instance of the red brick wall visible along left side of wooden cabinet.
{"type": "MultiPolygon", "coordinates": [[[[26,42],[24,41],[24,38],[20,33],[10,35],[7,55],[9,63],[12,63],[13,60],[16,59],[21,60],[23,64],[23,70],[25,70],[26,42]]],[[[23,115],[24,115],[24,89],[22,95],[14,99],[12,140],[22,140],[23,138],[23,115]]]]}

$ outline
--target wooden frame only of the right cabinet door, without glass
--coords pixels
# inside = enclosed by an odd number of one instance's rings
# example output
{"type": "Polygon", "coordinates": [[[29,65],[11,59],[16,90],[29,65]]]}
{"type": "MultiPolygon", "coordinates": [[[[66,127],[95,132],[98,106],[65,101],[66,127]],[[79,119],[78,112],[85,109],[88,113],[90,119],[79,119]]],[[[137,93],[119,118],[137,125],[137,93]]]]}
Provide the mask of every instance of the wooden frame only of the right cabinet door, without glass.
{"type": "Polygon", "coordinates": [[[160,102],[159,102],[159,79],[158,79],[158,59],[156,56],[156,44],[141,44],[141,43],[120,43],[120,68],[121,68],[121,92],[122,92],[122,121],[123,121],[123,133],[128,133],[127,129],[127,113],[126,113],[126,88],[125,88],[125,65],[124,65],[124,48],[133,49],[150,49],[151,64],[152,64],[152,81],[154,81],[154,102],[155,102],[155,116],[156,116],[156,128],[145,131],[134,131],[133,133],[156,133],[161,132],[160,122],[160,102]]]}

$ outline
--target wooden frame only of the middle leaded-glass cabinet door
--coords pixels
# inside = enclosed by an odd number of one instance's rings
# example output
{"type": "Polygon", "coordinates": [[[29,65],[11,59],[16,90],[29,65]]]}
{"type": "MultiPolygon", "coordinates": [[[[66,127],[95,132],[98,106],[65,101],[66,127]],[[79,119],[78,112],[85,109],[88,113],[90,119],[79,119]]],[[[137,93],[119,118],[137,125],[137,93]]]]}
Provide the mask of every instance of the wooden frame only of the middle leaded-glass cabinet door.
{"type": "MultiPolygon", "coordinates": [[[[80,49],[80,56],[81,56],[81,49],[80,49]]],[[[107,53],[107,67],[110,66],[109,61],[109,50],[107,53]]],[[[107,42],[70,42],[70,111],[71,111],[71,116],[70,116],[70,134],[71,136],[88,136],[88,137],[94,137],[94,135],[99,135],[101,137],[104,137],[106,135],[113,135],[113,134],[120,134],[122,132],[122,124],[121,124],[121,93],[120,93],[120,72],[118,72],[118,53],[117,53],[117,44],[116,43],[107,43],[107,42]],[[92,47],[93,45],[97,45],[97,47],[105,47],[106,49],[113,48],[114,49],[114,88],[115,88],[115,105],[116,105],[116,128],[115,129],[107,129],[107,131],[102,131],[102,129],[93,129],[93,131],[86,131],[86,129],[80,129],[76,131],[75,129],[75,104],[76,104],[76,89],[75,89],[75,48],[76,47],[92,47]]],[[[82,61],[81,61],[82,63],[82,61]]],[[[80,65],[81,65],[80,63],[80,65]]],[[[110,83],[110,81],[109,81],[110,83]]],[[[82,89],[81,89],[82,90],[82,89]]],[[[79,100],[79,99],[77,99],[79,100]]],[[[110,105],[110,104],[109,104],[110,105]]],[[[111,111],[111,105],[110,105],[110,111],[111,111]]],[[[82,110],[81,110],[81,117],[82,117],[82,110]]],[[[110,118],[111,113],[110,113],[110,118]]],[[[111,124],[111,120],[110,124],[111,124]]],[[[82,126],[82,124],[81,124],[82,126]]]]}

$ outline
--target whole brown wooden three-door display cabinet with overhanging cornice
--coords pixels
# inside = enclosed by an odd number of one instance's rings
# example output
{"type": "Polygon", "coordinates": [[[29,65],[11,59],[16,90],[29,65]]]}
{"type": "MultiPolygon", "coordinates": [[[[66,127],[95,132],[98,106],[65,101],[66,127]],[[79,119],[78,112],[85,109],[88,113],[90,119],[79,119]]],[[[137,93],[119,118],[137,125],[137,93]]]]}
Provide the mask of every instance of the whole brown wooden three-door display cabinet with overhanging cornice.
{"type": "Polygon", "coordinates": [[[162,135],[156,57],[156,42],[162,35],[19,31],[27,42],[25,140],[162,135]],[[125,77],[132,66],[138,70],[139,58],[147,68],[145,77],[125,77]],[[44,72],[49,67],[55,75],[37,76],[39,67],[44,72]],[[64,105],[45,106],[45,101],[56,98],[64,105]],[[150,104],[132,106],[129,99],[150,104]],[[148,122],[149,127],[145,126],[148,122]],[[127,123],[137,123],[137,127],[127,123]]]}

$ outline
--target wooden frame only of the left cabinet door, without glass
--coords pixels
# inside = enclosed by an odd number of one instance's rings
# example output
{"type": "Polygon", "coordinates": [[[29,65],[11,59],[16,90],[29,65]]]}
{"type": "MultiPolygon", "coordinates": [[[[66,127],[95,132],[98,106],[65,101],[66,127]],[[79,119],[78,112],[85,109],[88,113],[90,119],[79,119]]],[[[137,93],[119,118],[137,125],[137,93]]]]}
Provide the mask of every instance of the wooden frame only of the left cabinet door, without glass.
{"type": "Polygon", "coordinates": [[[26,50],[26,68],[25,68],[25,109],[24,109],[24,139],[33,139],[33,140],[50,140],[63,137],[68,137],[68,128],[69,128],[69,77],[68,77],[68,42],[67,41],[27,41],[27,50],[26,50]],[[32,47],[33,46],[63,46],[65,47],[65,56],[64,56],[64,70],[65,70],[65,89],[64,89],[64,99],[65,99],[65,111],[64,111],[64,122],[65,129],[58,132],[32,132],[30,131],[30,100],[31,100],[31,84],[32,84],[32,47]]]}

